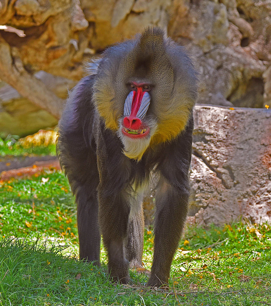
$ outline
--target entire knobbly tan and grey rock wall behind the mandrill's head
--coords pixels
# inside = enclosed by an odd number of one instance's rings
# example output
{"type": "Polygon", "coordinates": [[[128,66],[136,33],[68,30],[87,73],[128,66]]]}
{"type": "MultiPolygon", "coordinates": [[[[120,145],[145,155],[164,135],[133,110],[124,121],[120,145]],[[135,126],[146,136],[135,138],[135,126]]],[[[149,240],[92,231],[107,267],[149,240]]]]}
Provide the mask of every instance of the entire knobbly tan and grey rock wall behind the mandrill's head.
{"type": "Polygon", "coordinates": [[[0,133],[54,128],[89,58],[158,25],[201,73],[198,103],[271,99],[271,4],[256,0],[0,0],[0,133]]]}

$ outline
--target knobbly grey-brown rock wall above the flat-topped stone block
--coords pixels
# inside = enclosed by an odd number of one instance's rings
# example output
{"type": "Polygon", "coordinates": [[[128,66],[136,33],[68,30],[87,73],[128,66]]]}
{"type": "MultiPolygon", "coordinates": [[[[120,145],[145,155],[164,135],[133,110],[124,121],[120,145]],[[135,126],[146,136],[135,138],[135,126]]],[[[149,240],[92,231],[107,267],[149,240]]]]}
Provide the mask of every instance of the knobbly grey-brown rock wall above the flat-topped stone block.
{"type": "Polygon", "coordinates": [[[271,59],[270,2],[176,0],[173,8],[168,33],[194,55],[202,73],[198,102],[263,107],[263,73],[271,59]]]}

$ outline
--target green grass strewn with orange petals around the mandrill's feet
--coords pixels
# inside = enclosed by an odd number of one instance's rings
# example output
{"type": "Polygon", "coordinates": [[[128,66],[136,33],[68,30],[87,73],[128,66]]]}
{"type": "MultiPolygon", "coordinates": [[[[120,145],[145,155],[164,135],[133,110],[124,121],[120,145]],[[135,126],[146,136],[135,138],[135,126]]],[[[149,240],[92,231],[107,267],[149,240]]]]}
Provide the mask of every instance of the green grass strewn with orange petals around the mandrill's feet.
{"type": "MultiPolygon", "coordinates": [[[[147,276],[134,271],[129,285],[112,284],[103,247],[101,268],[78,261],[76,207],[60,172],[0,183],[0,226],[0,305],[271,304],[267,224],[190,226],[167,290],[145,287],[147,276]]],[[[152,229],[145,230],[149,269],[152,241],[152,229]]]]}

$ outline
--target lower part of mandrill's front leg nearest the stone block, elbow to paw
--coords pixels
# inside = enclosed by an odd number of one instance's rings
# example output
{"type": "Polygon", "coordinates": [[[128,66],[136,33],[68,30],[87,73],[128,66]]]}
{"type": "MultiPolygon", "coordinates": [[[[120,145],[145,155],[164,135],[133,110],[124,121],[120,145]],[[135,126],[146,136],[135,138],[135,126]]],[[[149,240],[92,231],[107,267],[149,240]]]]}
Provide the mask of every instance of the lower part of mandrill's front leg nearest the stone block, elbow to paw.
{"type": "Polygon", "coordinates": [[[188,208],[188,179],[182,187],[160,178],[154,219],[154,255],[148,286],[168,283],[170,266],[178,248],[188,208]]]}

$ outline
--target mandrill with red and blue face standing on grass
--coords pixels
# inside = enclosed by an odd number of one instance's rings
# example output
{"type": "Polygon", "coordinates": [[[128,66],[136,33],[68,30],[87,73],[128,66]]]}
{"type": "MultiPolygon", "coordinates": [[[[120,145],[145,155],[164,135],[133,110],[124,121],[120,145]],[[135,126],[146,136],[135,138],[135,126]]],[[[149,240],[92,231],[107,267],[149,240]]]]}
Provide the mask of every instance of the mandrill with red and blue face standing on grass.
{"type": "Polygon", "coordinates": [[[154,254],[147,285],[168,282],[189,202],[197,73],[160,28],[106,49],[70,93],[59,122],[58,156],[76,196],[80,259],[126,284],[142,267],[142,198],[156,187],[154,254]]]}

